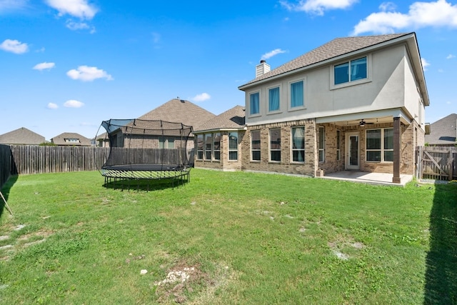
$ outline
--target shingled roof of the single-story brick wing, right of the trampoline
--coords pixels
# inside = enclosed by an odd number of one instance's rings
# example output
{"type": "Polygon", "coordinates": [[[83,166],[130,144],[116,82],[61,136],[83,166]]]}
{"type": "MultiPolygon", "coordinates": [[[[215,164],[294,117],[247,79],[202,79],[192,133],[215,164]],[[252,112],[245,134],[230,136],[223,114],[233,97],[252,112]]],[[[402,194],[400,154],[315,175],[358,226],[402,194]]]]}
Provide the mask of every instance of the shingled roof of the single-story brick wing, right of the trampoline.
{"type": "Polygon", "coordinates": [[[221,129],[242,129],[245,126],[245,114],[243,106],[234,106],[219,116],[201,124],[196,131],[209,131],[221,129]]]}

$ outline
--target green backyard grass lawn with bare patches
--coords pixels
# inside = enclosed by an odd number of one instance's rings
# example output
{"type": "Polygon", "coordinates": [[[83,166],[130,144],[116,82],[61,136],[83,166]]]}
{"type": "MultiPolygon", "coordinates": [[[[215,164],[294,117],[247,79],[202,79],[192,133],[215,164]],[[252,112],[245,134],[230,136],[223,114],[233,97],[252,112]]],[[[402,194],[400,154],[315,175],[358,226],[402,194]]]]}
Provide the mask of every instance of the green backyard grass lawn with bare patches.
{"type": "Polygon", "coordinates": [[[457,184],[203,169],[174,189],[103,184],[9,180],[0,304],[457,304],[457,184]]]}

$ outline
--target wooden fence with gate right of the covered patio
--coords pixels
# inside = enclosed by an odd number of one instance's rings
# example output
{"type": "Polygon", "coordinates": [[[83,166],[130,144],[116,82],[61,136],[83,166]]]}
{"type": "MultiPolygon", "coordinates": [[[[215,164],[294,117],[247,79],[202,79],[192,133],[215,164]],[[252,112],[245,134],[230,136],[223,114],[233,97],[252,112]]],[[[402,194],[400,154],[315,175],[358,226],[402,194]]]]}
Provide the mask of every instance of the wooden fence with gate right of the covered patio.
{"type": "Polygon", "coordinates": [[[416,154],[418,179],[457,180],[456,147],[418,147],[416,154]]]}

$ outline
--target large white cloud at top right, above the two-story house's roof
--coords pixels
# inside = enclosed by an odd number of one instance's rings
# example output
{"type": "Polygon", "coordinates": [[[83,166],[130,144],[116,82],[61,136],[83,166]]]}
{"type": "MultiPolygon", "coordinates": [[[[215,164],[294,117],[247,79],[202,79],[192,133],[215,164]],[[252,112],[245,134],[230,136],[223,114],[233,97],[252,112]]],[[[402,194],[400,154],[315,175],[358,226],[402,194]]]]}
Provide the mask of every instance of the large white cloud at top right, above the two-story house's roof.
{"type": "Polygon", "coordinates": [[[457,27],[457,4],[452,5],[446,0],[434,2],[414,2],[409,6],[407,14],[396,11],[393,6],[381,4],[378,13],[370,14],[366,19],[359,21],[353,29],[353,35],[366,32],[379,34],[394,33],[403,29],[419,29],[426,26],[457,27]]]}

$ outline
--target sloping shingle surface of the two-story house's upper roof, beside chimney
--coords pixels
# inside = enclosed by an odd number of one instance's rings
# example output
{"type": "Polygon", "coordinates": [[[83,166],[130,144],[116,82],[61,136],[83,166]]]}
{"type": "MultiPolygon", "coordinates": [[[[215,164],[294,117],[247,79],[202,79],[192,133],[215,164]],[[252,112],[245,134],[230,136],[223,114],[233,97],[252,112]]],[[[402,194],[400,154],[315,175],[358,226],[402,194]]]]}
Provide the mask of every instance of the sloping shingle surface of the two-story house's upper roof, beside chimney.
{"type": "MultiPolygon", "coordinates": [[[[387,35],[376,35],[376,36],[353,36],[353,37],[344,37],[344,38],[336,38],[332,41],[319,46],[312,51],[309,51],[306,54],[298,56],[296,59],[288,61],[286,64],[282,66],[278,66],[278,68],[273,69],[266,74],[258,76],[256,79],[248,81],[248,83],[244,84],[246,86],[248,84],[253,84],[257,81],[261,81],[263,79],[269,79],[273,76],[278,76],[280,74],[285,74],[287,72],[291,72],[293,70],[301,69],[306,66],[311,66],[313,64],[318,64],[321,61],[326,61],[328,59],[333,59],[337,56],[341,56],[343,54],[348,54],[353,51],[358,51],[361,49],[365,49],[368,46],[374,46],[376,44],[381,44],[385,41],[389,41],[391,39],[396,39],[401,36],[406,36],[409,34],[387,34],[387,35]]],[[[243,88],[243,86],[239,86],[238,89],[243,88]]]]}

